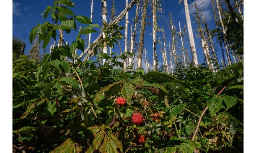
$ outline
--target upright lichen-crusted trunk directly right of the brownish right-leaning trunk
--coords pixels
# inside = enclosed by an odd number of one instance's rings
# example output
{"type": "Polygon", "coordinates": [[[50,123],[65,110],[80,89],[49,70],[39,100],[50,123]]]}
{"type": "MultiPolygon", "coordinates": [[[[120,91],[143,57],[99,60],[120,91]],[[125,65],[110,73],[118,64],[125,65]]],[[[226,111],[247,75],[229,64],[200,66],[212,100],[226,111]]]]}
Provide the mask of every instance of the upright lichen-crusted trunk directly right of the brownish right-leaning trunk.
{"type": "Polygon", "coordinates": [[[156,31],[157,31],[157,19],[156,19],[156,0],[152,0],[152,14],[153,14],[153,70],[157,71],[157,54],[156,54],[156,31]]]}

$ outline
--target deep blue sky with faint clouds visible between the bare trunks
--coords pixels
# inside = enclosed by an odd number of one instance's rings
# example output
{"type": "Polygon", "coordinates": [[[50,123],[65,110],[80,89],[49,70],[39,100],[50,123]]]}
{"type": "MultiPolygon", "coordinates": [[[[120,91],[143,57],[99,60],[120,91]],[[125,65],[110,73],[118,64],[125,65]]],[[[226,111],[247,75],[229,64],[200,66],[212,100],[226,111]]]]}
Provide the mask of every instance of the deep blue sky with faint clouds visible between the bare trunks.
{"type": "MultiPolygon", "coordinates": [[[[131,0],[129,0],[130,2],[131,0]]],[[[74,4],[76,7],[71,8],[71,10],[76,14],[76,15],[83,15],[88,18],[90,18],[90,11],[91,11],[91,0],[73,0],[74,4]]],[[[166,43],[168,44],[168,41],[171,42],[171,33],[168,28],[168,16],[169,13],[172,13],[173,19],[174,19],[174,24],[177,28],[179,29],[179,24],[178,22],[180,21],[181,28],[186,24],[186,17],[184,13],[184,5],[178,3],[179,0],[162,0],[161,3],[162,8],[164,10],[163,14],[158,14],[161,16],[158,20],[158,25],[159,28],[164,27],[165,31],[165,37],[166,37],[166,43]]],[[[214,19],[212,17],[212,5],[211,5],[211,0],[188,0],[189,3],[189,9],[190,9],[190,18],[192,22],[192,28],[193,28],[193,33],[194,33],[194,39],[195,39],[195,44],[196,44],[196,51],[197,51],[197,56],[198,56],[198,62],[202,63],[204,62],[204,55],[203,55],[203,50],[202,46],[200,46],[200,38],[197,37],[196,35],[198,32],[196,31],[197,25],[194,23],[195,18],[192,15],[192,12],[195,10],[190,4],[202,4],[200,7],[203,8],[203,13],[207,17],[207,22],[210,27],[210,29],[215,28],[215,23],[214,19]]],[[[44,11],[44,9],[48,6],[52,6],[53,1],[52,0],[14,0],[12,2],[12,31],[13,31],[13,36],[16,36],[17,38],[21,39],[26,43],[26,48],[25,48],[25,54],[28,54],[29,49],[31,48],[31,44],[29,42],[28,36],[31,31],[31,29],[36,26],[38,23],[42,24],[45,22],[45,20],[42,19],[41,13],[44,11]]],[[[108,9],[108,15],[110,16],[111,13],[111,5],[112,5],[112,0],[107,0],[107,9],[108,9]]],[[[116,10],[118,15],[123,9],[125,5],[125,0],[116,0],[116,10]]],[[[142,7],[142,5],[141,5],[142,7]]],[[[135,9],[136,6],[134,5],[132,9],[129,11],[129,25],[128,25],[128,40],[130,40],[130,24],[133,24],[132,18],[135,18],[135,9]]],[[[149,12],[147,14],[151,14],[150,11],[150,4],[148,7],[149,12]]],[[[52,22],[50,16],[46,18],[48,22],[52,22]]],[[[109,21],[109,18],[107,19],[109,21]]],[[[123,19],[120,22],[120,26],[124,26],[124,20],[123,19]]],[[[140,22],[140,21],[139,21],[140,22]]],[[[152,23],[152,18],[146,19],[146,22],[152,23]]],[[[100,0],[94,0],[94,6],[93,6],[93,19],[92,23],[98,23],[100,26],[102,25],[102,19],[101,19],[101,1],[100,0]]],[[[79,27],[79,23],[77,23],[77,27],[79,27]]],[[[83,25],[86,26],[86,25],[83,25]]],[[[138,34],[136,41],[138,42],[139,39],[139,29],[140,25],[138,27],[138,34]]],[[[99,30],[98,30],[99,31],[99,30]]],[[[122,31],[124,34],[124,30],[122,31]]],[[[152,48],[152,26],[151,25],[146,25],[146,31],[145,31],[145,39],[144,39],[144,47],[147,49],[147,56],[148,56],[148,61],[152,63],[152,56],[153,56],[153,48],[152,48]]],[[[70,34],[64,33],[64,40],[68,41],[69,44],[73,42],[76,38],[77,32],[73,31],[70,34]]],[[[99,33],[92,33],[92,39],[93,41],[99,33]]],[[[188,34],[187,34],[188,35],[188,34]]],[[[177,35],[178,36],[178,35],[177,35]]],[[[157,37],[162,38],[162,33],[157,33],[157,37]]],[[[84,37],[85,39],[85,37],[84,37]]],[[[162,39],[161,39],[162,40],[162,39]]],[[[179,47],[181,46],[180,44],[180,39],[177,39],[178,45],[177,45],[177,52],[180,54],[179,47]]],[[[49,53],[49,46],[53,43],[53,40],[50,41],[49,45],[46,47],[46,52],[49,53]]],[[[129,41],[128,41],[129,43],[129,41]]],[[[188,38],[184,38],[184,43],[185,43],[185,49],[189,51],[189,56],[191,60],[191,53],[190,53],[190,47],[189,47],[189,41],[188,38]]],[[[216,47],[217,55],[221,57],[221,51],[220,51],[220,46],[219,44],[215,41],[214,39],[214,44],[216,47]]],[[[122,51],[124,51],[124,40],[121,40],[121,46],[122,46],[122,51]]],[[[162,54],[160,51],[160,44],[157,44],[157,54],[158,54],[158,61],[159,61],[159,66],[162,64],[162,54]]],[[[43,50],[41,51],[43,52],[43,50]]],[[[118,46],[115,46],[114,52],[119,52],[118,46]]],[[[80,54],[81,51],[78,51],[78,54],[80,54]]],[[[169,64],[169,51],[167,48],[167,55],[168,55],[168,64],[169,64]]],[[[144,62],[144,59],[143,59],[144,62]]],[[[143,64],[144,66],[144,64],[143,64]]]]}

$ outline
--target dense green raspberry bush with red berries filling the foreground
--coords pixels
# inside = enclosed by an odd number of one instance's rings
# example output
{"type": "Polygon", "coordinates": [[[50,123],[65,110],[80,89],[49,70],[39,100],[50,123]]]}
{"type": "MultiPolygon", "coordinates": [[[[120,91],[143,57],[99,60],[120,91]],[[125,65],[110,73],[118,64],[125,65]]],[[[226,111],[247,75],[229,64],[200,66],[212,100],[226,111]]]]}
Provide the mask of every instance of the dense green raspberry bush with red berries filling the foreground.
{"type": "Polygon", "coordinates": [[[120,61],[128,61],[130,53],[98,52],[123,38],[119,20],[99,29],[89,18],[76,16],[69,9],[73,6],[55,1],[43,12],[54,22],[36,25],[29,36],[33,42],[39,35],[45,48],[59,30],[68,35],[82,24],[70,45],[56,45],[40,63],[26,55],[13,62],[13,152],[243,150],[243,61],[217,73],[204,64],[185,68],[182,63],[172,75],[161,69],[124,70],[120,61]],[[85,50],[84,35],[97,31],[105,39],[89,47],[95,56],[86,53],[80,59],[75,51],[85,50]]]}

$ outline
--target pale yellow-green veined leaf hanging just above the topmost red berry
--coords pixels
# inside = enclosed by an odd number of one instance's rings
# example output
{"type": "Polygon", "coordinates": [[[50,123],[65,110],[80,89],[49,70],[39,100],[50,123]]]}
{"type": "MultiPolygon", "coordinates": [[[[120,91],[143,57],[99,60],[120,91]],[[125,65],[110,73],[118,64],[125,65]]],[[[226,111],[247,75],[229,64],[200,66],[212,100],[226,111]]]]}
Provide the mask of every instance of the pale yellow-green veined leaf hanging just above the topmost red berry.
{"type": "Polygon", "coordinates": [[[121,89],[121,94],[123,98],[127,100],[127,104],[131,106],[132,101],[131,98],[134,95],[135,89],[132,84],[124,83],[123,88],[121,89]]]}

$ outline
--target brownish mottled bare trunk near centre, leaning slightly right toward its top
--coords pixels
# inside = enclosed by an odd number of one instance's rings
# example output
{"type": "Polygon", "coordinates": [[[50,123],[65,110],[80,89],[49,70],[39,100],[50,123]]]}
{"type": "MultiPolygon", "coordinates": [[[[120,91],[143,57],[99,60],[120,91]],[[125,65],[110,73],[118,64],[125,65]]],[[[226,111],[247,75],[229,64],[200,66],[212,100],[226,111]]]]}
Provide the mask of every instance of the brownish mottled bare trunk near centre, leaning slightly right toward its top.
{"type": "Polygon", "coordinates": [[[139,50],[138,50],[138,62],[137,67],[142,66],[142,55],[143,55],[143,46],[144,46],[144,34],[145,34],[145,21],[146,21],[146,13],[147,13],[148,0],[144,0],[143,2],[143,10],[141,15],[141,23],[140,23],[140,37],[139,37],[139,50]]]}

